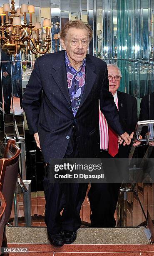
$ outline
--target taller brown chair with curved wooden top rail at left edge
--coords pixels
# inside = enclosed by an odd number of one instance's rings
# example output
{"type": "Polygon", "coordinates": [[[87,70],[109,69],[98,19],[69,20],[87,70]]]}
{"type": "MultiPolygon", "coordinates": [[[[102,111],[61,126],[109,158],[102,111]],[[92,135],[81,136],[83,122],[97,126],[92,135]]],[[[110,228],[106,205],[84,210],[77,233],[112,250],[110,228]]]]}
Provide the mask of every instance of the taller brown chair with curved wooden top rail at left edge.
{"type": "Polygon", "coordinates": [[[0,221],[0,247],[7,247],[5,225],[11,215],[19,168],[19,156],[20,148],[15,145],[15,140],[9,140],[5,148],[4,158],[0,159],[0,191],[6,200],[5,212],[0,221]]]}

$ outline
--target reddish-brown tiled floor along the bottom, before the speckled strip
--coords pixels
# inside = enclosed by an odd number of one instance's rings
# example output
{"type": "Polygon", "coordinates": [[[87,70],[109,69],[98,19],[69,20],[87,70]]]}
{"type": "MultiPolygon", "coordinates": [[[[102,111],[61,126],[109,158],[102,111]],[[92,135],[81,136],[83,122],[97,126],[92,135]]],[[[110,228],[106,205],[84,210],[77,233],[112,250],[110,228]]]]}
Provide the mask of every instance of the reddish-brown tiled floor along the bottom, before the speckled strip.
{"type": "MultiPolygon", "coordinates": [[[[27,248],[26,256],[154,256],[153,245],[64,245],[60,248],[51,244],[8,244],[8,248],[27,248]]],[[[24,253],[9,253],[21,256],[24,253]]]]}

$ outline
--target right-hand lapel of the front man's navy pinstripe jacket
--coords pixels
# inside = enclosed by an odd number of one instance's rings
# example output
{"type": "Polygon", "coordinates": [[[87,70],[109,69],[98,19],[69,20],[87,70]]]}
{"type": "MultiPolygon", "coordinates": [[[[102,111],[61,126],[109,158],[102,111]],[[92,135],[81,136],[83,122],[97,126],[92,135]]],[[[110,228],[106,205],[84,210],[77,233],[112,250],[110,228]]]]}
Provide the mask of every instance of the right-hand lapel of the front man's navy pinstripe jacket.
{"type": "MultiPolygon", "coordinates": [[[[97,74],[94,73],[95,67],[90,60],[89,56],[86,56],[86,82],[84,87],[84,92],[82,95],[82,99],[79,105],[79,108],[83,105],[84,101],[87,99],[92,87],[94,85],[94,81],[96,80],[97,74]]],[[[79,111],[79,109],[78,109],[79,111]]],[[[78,113],[77,111],[77,113],[78,113]]]]}

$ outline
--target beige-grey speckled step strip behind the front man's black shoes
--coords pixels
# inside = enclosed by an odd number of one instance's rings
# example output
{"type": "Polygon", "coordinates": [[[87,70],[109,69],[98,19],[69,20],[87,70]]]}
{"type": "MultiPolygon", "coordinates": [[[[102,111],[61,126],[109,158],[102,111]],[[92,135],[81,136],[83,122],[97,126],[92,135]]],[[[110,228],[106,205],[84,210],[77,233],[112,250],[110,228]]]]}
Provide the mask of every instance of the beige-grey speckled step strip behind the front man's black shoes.
{"type": "MultiPolygon", "coordinates": [[[[145,227],[79,228],[74,244],[148,244],[145,227]]],[[[6,227],[7,243],[49,243],[44,227],[6,227]]]]}

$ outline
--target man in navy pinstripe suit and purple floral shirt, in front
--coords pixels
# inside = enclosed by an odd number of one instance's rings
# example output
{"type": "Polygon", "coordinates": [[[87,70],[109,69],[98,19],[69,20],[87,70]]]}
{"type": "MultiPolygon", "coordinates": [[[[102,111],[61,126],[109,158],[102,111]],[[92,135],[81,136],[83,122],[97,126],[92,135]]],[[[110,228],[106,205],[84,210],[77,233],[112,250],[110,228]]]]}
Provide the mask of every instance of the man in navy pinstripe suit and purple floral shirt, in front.
{"type": "Polygon", "coordinates": [[[58,246],[75,241],[87,184],[50,184],[50,159],[99,156],[98,100],[109,125],[127,144],[131,141],[109,92],[107,65],[87,54],[90,26],[69,21],[60,37],[64,51],[36,59],[22,101],[47,163],[45,223],[49,240],[58,246]]]}

